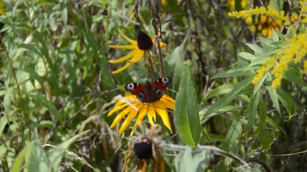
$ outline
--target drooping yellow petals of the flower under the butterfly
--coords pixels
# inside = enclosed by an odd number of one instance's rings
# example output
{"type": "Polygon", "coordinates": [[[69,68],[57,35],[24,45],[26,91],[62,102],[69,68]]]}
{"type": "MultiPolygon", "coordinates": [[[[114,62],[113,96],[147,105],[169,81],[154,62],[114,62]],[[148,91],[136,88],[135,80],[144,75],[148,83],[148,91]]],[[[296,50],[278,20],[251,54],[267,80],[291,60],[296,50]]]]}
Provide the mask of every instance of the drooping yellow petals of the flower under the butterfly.
{"type": "Polygon", "coordinates": [[[170,119],[166,109],[175,109],[175,101],[173,98],[164,94],[159,101],[142,103],[139,101],[135,95],[127,94],[122,100],[116,102],[113,110],[108,113],[108,116],[113,115],[114,113],[122,110],[117,117],[114,119],[111,128],[114,128],[119,124],[119,122],[128,114],[124,120],[121,128],[119,129],[118,134],[121,135],[126,128],[129,126],[130,122],[138,117],[133,126],[133,130],[130,135],[133,135],[134,130],[137,127],[137,124],[142,121],[147,113],[148,121],[150,125],[154,125],[156,122],[156,113],[162,118],[164,125],[171,131],[170,119]]]}

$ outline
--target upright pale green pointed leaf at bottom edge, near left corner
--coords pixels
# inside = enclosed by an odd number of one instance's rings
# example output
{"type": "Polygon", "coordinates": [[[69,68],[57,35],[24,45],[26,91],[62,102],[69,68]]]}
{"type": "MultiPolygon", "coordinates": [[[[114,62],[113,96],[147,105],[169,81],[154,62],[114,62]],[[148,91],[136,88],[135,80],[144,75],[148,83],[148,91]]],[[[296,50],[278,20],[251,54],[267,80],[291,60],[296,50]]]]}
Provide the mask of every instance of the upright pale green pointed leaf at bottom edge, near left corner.
{"type": "Polygon", "coordinates": [[[49,171],[49,159],[42,149],[41,142],[36,132],[33,132],[33,144],[29,157],[28,171],[49,171]]]}

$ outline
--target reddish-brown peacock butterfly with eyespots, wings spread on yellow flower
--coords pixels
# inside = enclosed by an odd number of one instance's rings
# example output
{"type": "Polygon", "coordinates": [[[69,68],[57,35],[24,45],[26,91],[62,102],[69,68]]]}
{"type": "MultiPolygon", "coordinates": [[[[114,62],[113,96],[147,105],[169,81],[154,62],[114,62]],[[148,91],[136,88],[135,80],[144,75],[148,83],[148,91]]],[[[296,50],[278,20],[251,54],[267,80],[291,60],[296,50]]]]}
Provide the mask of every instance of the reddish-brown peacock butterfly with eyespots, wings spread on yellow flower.
{"type": "Polygon", "coordinates": [[[152,83],[148,81],[145,84],[136,82],[129,83],[126,84],[125,89],[133,95],[136,95],[136,98],[143,103],[155,102],[162,98],[164,90],[170,81],[171,79],[169,77],[162,77],[152,83]]]}

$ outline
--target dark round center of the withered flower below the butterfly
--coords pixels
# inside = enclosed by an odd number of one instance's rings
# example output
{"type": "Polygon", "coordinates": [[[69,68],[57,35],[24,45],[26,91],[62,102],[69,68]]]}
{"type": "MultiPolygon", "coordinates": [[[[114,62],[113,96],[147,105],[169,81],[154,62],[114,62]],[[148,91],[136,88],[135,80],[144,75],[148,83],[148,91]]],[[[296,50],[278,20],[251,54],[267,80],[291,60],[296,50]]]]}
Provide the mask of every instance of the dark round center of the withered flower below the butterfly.
{"type": "Polygon", "coordinates": [[[134,155],[139,159],[149,159],[152,157],[152,141],[147,137],[142,137],[134,143],[134,155]]]}

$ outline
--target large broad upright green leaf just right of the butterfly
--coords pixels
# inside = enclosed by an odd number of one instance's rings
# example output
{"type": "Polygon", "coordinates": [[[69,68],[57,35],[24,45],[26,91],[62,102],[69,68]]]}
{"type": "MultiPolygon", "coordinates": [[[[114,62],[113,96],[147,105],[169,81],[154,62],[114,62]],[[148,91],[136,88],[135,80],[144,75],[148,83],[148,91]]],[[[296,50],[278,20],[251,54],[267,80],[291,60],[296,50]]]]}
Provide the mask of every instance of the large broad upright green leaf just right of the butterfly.
{"type": "Polygon", "coordinates": [[[188,64],[183,64],[174,114],[179,135],[187,145],[195,147],[199,140],[201,128],[196,92],[188,64]]]}

